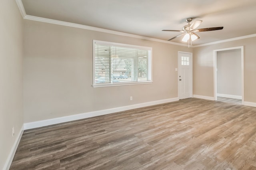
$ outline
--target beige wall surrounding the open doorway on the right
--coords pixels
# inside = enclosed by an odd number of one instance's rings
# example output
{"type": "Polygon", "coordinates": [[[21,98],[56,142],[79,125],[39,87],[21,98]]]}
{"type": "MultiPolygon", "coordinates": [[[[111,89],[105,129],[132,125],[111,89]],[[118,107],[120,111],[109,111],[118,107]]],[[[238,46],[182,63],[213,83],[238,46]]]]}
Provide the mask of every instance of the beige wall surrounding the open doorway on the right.
{"type": "Polygon", "coordinates": [[[256,103],[256,37],[193,48],[193,93],[214,96],[213,50],[244,46],[244,101],[256,103]]]}

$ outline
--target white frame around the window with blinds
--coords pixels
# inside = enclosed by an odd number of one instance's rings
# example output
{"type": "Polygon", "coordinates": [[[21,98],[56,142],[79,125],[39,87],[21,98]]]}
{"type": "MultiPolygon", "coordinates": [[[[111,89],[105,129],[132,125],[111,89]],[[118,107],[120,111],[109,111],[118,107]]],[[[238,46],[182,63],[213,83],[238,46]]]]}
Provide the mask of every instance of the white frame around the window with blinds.
{"type": "Polygon", "coordinates": [[[108,87],[108,86],[121,86],[121,85],[138,85],[138,84],[150,84],[152,83],[152,47],[145,47],[139,45],[130,45],[124,43],[105,42],[99,40],[93,40],[93,87],[108,87]],[[143,50],[150,50],[150,80],[149,81],[130,81],[130,82],[112,82],[112,83],[95,83],[95,44],[100,45],[112,45],[118,47],[137,48],[143,50]]]}

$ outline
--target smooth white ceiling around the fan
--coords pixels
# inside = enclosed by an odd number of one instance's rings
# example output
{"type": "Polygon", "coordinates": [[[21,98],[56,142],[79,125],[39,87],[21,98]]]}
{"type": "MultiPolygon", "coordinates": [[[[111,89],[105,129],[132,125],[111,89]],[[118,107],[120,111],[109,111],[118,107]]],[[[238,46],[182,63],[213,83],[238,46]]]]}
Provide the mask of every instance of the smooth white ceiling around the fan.
{"type": "MultiPolygon", "coordinates": [[[[186,18],[202,20],[193,45],[256,34],[256,0],[22,0],[27,15],[168,40],[186,18]]],[[[182,37],[172,42],[183,43],[182,37]]]]}

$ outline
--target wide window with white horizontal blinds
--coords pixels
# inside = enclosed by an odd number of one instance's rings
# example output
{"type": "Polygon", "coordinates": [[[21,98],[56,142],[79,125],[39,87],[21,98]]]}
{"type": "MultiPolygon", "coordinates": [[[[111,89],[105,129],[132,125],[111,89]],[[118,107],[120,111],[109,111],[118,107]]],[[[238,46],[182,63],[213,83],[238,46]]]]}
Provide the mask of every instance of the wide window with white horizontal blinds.
{"type": "Polygon", "coordinates": [[[93,41],[94,87],[152,83],[151,47],[93,41]]]}

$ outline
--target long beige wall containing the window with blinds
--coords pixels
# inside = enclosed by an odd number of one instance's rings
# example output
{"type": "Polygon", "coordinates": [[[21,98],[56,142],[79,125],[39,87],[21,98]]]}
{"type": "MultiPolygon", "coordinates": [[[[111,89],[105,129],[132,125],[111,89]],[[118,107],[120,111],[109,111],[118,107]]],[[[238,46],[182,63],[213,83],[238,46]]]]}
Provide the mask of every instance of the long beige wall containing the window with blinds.
{"type": "Polygon", "coordinates": [[[25,123],[178,97],[178,51],[192,48],[24,22],[25,123]],[[153,83],[93,88],[93,40],[152,47],[153,83]]]}

